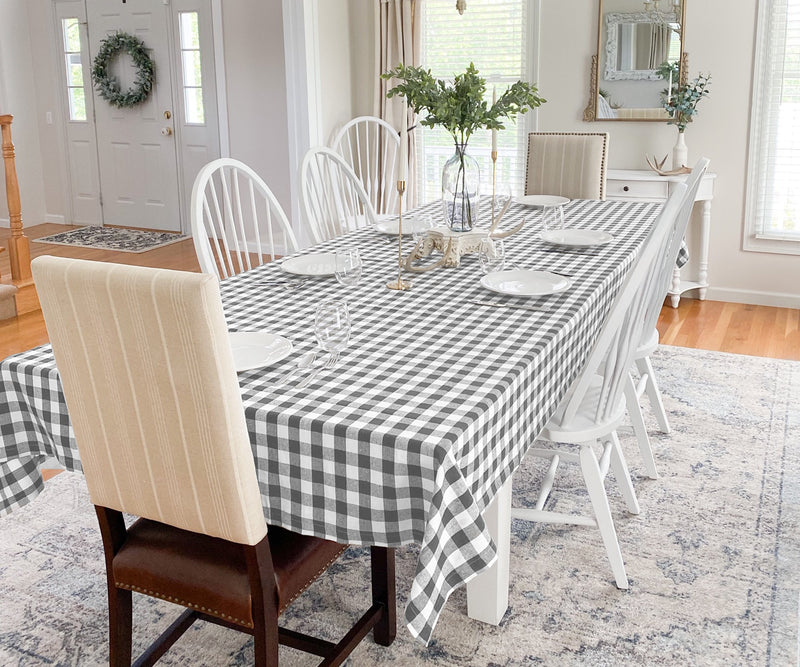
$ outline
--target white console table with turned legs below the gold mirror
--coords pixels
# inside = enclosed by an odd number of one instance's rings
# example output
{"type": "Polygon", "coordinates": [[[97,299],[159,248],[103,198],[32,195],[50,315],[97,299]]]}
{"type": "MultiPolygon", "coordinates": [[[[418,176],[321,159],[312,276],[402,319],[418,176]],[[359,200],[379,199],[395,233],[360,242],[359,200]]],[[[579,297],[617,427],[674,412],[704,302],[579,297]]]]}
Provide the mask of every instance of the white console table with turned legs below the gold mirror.
{"type": "MultiPolygon", "coordinates": [[[[701,207],[700,251],[697,280],[683,280],[677,267],[672,276],[669,290],[670,304],[677,308],[681,294],[696,289],[700,299],[706,298],[708,287],[708,239],[711,232],[711,200],[714,198],[714,179],[716,174],[706,172],[697,190],[695,202],[701,207]]],[[[649,170],[609,169],[606,172],[607,199],[633,199],[636,201],[666,201],[676,183],[682,183],[686,176],[659,176],[649,170]]]]}

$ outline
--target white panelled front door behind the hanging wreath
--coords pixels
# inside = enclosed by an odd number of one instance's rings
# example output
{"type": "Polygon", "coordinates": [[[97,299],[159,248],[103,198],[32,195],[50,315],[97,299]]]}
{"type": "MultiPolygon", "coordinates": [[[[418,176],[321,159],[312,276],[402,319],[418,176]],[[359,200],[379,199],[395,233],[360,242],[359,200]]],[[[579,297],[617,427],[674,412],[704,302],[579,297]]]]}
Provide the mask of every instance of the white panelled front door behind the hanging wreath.
{"type": "MultiPolygon", "coordinates": [[[[170,62],[170,7],[163,0],[87,0],[92,62],[103,39],[123,31],[141,39],[155,63],[152,92],[143,103],[119,109],[96,93],[95,125],[106,225],[181,230],[178,158],[170,62]]],[[[123,90],[135,78],[127,54],[111,71],[123,90]]]]}

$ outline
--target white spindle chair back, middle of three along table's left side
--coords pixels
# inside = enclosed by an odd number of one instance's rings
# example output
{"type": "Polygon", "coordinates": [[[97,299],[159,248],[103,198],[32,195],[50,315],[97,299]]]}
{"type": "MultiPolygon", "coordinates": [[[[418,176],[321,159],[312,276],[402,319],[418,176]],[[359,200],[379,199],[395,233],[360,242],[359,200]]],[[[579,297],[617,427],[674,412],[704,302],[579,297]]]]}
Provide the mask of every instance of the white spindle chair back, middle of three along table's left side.
{"type": "Polygon", "coordinates": [[[312,148],[300,165],[303,214],[315,243],[376,222],[375,209],[355,172],[336,151],[312,148]]]}

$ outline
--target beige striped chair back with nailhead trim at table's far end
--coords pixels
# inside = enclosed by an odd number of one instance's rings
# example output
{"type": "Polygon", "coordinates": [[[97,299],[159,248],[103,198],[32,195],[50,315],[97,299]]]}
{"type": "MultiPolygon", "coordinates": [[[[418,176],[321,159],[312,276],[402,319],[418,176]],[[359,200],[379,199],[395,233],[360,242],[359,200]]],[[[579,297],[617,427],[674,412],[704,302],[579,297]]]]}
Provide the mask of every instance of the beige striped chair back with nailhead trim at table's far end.
{"type": "Polygon", "coordinates": [[[531,132],[526,195],[606,198],[607,132],[531,132]]]}

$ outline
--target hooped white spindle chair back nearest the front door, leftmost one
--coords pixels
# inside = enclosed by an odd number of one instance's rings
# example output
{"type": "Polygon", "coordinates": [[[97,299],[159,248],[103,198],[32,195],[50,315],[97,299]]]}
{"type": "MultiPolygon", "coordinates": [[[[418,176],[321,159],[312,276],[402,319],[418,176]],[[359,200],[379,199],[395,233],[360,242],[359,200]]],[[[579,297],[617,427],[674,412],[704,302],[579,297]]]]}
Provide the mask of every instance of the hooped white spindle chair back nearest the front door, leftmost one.
{"type": "Polygon", "coordinates": [[[239,160],[220,158],[200,170],[190,214],[200,270],[220,280],[297,250],[275,195],[239,160]]]}

